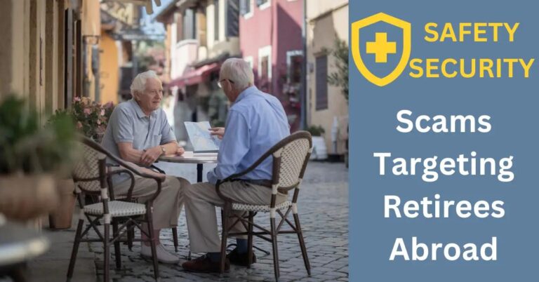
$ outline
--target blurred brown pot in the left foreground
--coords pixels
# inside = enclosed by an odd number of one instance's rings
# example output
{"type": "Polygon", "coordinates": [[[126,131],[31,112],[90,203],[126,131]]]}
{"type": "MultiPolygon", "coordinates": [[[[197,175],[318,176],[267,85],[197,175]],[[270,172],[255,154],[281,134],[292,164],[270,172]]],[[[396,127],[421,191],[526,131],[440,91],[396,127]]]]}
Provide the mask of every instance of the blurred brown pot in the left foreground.
{"type": "Polygon", "coordinates": [[[0,175],[0,213],[9,219],[32,220],[57,204],[53,175],[0,175]]]}

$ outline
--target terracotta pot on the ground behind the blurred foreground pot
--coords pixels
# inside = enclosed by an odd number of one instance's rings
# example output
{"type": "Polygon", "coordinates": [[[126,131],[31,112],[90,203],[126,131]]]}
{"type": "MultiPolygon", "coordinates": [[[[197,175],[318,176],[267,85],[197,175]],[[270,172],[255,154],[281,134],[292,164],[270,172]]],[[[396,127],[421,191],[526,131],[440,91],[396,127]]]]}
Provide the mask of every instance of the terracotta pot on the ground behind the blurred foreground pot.
{"type": "Polygon", "coordinates": [[[72,179],[56,180],[56,189],[60,199],[55,210],[48,215],[48,227],[52,229],[71,228],[73,209],[76,196],[73,194],[74,183],[72,179]]]}

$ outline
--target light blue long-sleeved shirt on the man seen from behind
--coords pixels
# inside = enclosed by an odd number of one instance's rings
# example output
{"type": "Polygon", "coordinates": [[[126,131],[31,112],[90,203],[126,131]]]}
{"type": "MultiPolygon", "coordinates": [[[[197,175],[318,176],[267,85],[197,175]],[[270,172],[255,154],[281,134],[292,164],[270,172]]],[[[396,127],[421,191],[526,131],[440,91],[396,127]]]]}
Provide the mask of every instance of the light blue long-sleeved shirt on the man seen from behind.
{"type": "MultiPolygon", "coordinates": [[[[240,173],[288,135],[290,126],[281,102],[255,86],[247,88],[230,107],[217,166],[208,172],[208,181],[215,184],[240,173]]],[[[241,179],[271,180],[272,164],[270,156],[241,179]]]]}

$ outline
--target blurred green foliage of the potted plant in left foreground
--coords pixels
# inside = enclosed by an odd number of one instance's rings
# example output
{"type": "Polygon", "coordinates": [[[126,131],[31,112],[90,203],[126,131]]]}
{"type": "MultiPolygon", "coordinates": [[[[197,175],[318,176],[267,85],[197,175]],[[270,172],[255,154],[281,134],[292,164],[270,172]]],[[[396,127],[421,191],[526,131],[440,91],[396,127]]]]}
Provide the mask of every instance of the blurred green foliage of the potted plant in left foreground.
{"type": "Polygon", "coordinates": [[[41,127],[39,114],[25,100],[8,96],[0,104],[0,175],[49,173],[64,170],[76,160],[73,120],[58,114],[41,127]]]}

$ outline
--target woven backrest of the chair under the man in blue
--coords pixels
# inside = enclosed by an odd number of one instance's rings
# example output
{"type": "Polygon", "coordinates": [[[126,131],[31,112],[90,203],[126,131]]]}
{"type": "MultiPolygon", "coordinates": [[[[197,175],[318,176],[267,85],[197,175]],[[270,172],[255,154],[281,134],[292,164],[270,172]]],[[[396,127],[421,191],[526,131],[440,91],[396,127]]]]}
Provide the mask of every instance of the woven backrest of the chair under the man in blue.
{"type": "Polygon", "coordinates": [[[270,149],[273,156],[272,184],[289,190],[300,184],[312,152],[312,137],[307,131],[297,131],[270,149]]]}

